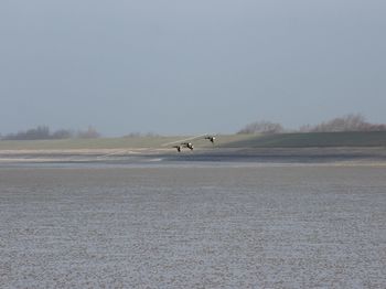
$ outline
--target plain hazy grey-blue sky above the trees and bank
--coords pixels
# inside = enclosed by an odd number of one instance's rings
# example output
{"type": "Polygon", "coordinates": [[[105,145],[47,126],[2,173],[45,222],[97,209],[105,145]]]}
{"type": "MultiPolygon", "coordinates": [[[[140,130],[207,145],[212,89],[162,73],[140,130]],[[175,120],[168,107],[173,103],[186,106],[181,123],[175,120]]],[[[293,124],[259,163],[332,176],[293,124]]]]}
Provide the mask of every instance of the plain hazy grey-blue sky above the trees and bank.
{"type": "Polygon", "coordinates": [[[1,0],[0,132],[386,122],[384,0],[1,0]]]}

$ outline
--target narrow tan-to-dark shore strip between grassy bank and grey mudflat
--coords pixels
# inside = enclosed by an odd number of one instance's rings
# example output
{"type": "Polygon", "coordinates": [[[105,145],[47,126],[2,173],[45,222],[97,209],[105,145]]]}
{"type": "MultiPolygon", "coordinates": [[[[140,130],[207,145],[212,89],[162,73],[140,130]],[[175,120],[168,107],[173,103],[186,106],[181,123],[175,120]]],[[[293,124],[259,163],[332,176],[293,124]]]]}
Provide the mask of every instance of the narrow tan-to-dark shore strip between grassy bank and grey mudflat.
{"type": "Polygon", "coordinates": [[[171,149],[0,150],[0,165],[14,163],[143,164],[181,162],[378,163],[386,148],[206,148],[181,153],[171,149]]]}

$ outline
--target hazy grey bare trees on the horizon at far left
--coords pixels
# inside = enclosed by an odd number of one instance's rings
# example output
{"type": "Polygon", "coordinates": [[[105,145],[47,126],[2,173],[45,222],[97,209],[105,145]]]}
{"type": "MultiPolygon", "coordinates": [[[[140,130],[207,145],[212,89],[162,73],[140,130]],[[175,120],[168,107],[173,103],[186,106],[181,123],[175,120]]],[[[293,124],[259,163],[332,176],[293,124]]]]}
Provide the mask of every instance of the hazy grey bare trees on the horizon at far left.
{"type": "Polygon", "coordinates": [[[58,129],[51,132],[47,126],[37,126],[28,130],[19,131],[17,133],[9,133],[3,137],[0,136],[1,140],[50,140],[50,139],[94,139],[99,138],[100,133],[89,126],[86,130],[74,131],[71,129],[58,129]]]}

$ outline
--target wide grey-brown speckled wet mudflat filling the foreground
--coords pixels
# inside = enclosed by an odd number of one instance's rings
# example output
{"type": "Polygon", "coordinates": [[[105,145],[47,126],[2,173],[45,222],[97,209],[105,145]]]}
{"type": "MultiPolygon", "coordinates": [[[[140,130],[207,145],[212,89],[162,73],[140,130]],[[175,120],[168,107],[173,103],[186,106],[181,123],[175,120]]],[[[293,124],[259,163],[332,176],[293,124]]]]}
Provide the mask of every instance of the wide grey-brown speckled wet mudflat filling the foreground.
{"type": "Polygon", "coordinates": [[[0,168],[1,288],[385,288],[386,170],[0,168]]]}

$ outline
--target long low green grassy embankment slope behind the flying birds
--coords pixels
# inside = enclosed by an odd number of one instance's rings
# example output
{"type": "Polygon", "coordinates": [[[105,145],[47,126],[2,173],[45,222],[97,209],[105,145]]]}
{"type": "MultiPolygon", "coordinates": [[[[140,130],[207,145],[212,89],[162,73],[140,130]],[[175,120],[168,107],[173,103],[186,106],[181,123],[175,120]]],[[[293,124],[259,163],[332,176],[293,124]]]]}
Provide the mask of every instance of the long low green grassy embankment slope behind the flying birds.
{"type": "MultiPolygon", "coordinates": [[[[0,150],[100,150],[100,149],[168,149],[163,146],[189,138],[126,137],[65,140],[0,141],[0,150]]],[[[211,148],[204,139],[194,141],[195,148],[211,148]]],[[[314,148],[314,147],[386,147],[386,131],[371,132],[308,132],[277,135],[221,135],[215,147],[219,148],[314,148]]]]}

